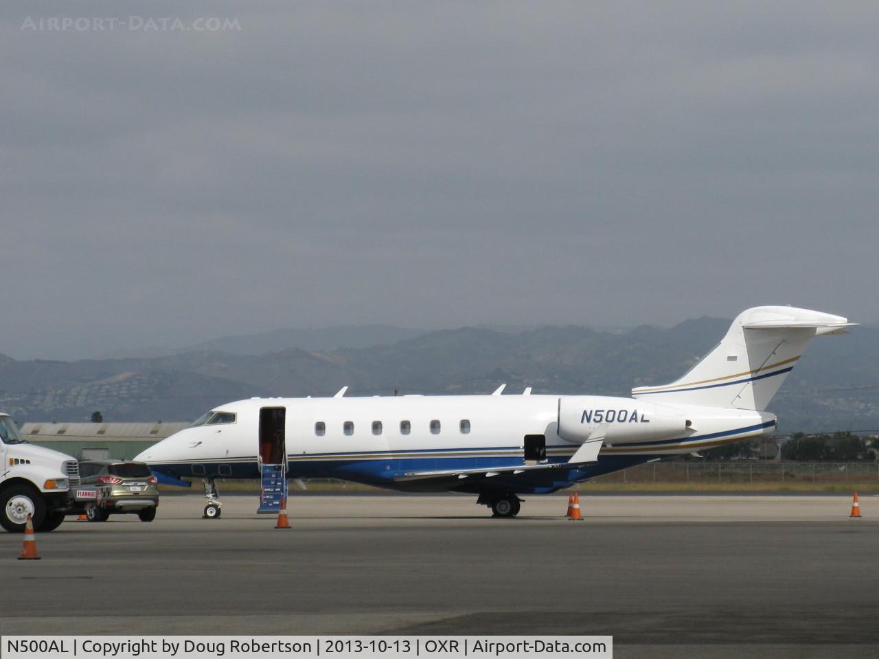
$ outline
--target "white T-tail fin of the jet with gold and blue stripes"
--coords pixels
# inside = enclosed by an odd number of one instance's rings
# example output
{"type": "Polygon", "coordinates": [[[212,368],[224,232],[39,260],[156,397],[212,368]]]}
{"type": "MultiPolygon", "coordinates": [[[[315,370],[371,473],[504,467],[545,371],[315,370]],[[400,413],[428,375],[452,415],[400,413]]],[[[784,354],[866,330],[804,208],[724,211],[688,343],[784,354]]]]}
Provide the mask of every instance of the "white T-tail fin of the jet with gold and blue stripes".
{"type": "Polygon", "coordinates": [[[656,402],[763,410],[814,337],[843,334],[853,324],[809,309],[750,308],[682,378],[664,387],[636,387],[632,395],[656,402]]]}

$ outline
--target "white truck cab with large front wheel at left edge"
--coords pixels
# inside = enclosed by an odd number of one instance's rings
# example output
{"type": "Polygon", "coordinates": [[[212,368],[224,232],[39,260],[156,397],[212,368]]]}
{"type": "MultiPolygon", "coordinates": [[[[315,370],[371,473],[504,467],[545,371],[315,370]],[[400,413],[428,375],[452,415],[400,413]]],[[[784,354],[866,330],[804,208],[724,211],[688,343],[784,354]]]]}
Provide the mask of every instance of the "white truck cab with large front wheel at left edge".
{"type": "Polygon", "coordinates": [[[21,438],[15,422],[0,412],[0,526],[23,532],[27,516],[38,532],[54,531],[64,516],[83,510],[95,493],[77,488],[79,464],[69,455],[21,438]]]}

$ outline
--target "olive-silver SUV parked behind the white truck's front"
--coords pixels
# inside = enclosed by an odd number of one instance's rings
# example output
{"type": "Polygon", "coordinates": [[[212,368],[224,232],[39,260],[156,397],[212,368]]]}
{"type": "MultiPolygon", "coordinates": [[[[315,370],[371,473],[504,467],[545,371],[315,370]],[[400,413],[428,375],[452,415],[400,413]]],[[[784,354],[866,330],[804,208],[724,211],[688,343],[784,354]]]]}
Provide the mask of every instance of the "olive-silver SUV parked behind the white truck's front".
{"type": "Polygon", "coordinates": [[[91,522],[134,512],[142,522],[156,518],[156,476],[141,462],[85,460],[79,463],[79,478],[80,485],[94,485],[98,490],[98,500],[85,511],[91,522]]]}

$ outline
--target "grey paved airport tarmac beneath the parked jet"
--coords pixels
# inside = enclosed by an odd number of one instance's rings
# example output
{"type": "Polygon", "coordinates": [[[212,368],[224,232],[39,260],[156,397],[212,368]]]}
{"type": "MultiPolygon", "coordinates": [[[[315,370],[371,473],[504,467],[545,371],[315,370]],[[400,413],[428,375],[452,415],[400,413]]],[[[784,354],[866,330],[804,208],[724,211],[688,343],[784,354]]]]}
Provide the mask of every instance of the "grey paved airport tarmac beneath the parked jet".
{"type": "Polygon", "coordinates": [[[156,520],[69,518],[17,561],[2,634],[612,634],[614,655],[865,656],[879,648],[879,497],[291,497],[292,529],[226,496],[156,520]],[[868,646],[873,646],[869,648],[868,646]]]}

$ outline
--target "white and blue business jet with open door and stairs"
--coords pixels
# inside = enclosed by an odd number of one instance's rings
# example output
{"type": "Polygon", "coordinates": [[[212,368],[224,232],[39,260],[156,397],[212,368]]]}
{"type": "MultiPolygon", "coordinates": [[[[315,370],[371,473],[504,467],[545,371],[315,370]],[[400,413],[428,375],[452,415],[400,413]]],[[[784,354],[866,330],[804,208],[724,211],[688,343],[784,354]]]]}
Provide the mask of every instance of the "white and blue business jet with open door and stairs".
{"type": "Polygon", "coordinates": [[[631,398],[492,395],[253,398],[212,409],[138,455],[161,482],[260,479],[259,511],[286,499],[287,479],[337,478],[381,488],[466,492],[495,516],[521,494],[546,494],[642,462],[775,429],[766,406],[814,337],[845,333],[838,315],[756,307],[679,380],[631,398]],[[271,493],[278,496],[272,499],[271,493]]]}

